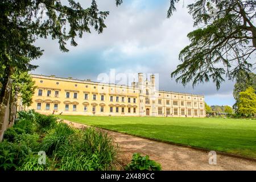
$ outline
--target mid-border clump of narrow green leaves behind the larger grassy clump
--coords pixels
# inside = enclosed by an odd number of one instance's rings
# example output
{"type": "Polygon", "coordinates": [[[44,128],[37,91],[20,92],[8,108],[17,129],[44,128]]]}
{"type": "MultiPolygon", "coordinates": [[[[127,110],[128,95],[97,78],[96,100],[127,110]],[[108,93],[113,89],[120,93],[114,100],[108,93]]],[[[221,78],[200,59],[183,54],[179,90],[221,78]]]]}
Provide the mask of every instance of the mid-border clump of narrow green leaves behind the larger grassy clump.
{"type": "Polygon", "coordinates": [[[57,124],[55,129],[49,131],[46,137],[44,137],[42,150],[46,151],[47,155],[53,156],[59,150],[60,146],[68,144],[69,136],[73,133],[75,133],[75,130],[67,124],[57,124]]]}

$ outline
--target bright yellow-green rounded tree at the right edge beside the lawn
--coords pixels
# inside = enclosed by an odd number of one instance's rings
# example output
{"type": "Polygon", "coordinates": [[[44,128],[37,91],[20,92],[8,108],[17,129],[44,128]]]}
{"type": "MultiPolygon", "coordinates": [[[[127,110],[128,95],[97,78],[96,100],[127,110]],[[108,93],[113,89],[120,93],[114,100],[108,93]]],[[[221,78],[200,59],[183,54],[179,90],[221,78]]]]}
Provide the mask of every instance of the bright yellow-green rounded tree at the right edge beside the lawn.
{"type": "Polygon", "coordinates": [[[240,92],[240,101],[238,102],[238,113],[245,116],[254,116],[256,114],[256,94],[253,87],[240,92]]]}

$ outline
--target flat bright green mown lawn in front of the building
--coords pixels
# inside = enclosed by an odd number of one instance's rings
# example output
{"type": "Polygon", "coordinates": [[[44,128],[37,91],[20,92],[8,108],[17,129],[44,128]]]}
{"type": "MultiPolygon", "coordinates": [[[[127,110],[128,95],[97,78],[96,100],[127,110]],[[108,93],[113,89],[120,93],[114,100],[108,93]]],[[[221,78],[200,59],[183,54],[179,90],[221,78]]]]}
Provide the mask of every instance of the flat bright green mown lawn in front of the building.
{"type": "Polygon", "coordinates": [[[121,133],[256,158],[255,120],[81,115],[61,115],[60,118],[121,133]]]}

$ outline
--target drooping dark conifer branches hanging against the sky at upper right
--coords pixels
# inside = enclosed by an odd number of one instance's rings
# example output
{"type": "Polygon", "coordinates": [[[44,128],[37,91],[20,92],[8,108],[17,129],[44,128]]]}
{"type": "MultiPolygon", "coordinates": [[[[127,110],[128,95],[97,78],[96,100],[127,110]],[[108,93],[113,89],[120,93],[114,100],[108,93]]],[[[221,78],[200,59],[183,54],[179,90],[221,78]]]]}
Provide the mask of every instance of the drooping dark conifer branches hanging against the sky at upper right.
{"type": "MultiPolygon", "coordinates": [[[[179,0],[170,2],[168,17],[179,0]]],[[[201,28],[188,34],[191,44],[180,52],[182,63],[171,76],[193,86],[212,80],[219,89],[226,77],[254,69],[255,61],[249,59],[256,52],[255,8],[254,0],[197,0],[188,5],[194,26],[201,28]]]]}

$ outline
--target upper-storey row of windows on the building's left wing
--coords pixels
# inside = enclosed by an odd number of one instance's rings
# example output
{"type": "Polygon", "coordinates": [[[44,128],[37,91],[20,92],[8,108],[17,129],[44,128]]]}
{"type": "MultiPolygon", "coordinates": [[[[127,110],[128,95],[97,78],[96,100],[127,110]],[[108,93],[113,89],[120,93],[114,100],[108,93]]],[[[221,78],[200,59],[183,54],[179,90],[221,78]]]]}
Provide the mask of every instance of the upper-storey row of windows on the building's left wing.
{"type": "MultiPolygon", "coordinates": [[[[51,90],[47,90],[47,97],[51,97],[51,90]]],[[[39,89],[38,90],[38,96],[43,96],[43,90],[42,89],[39,89]]],[[[55,90],[55,94],[54,94],[55,97],[59,97],[59,91],[55,90]]],[[[89,97],[89,94],[88,93],[85,93],[84,94],[84,100],[88,100],[88,97],[89,97]]],[[[71,98],[71,93],[70,92],[66,92],[65,93],[65,98],[71,98]]],[[[77,99],[77,92],[73,92],[73,98],[74,99],[77,99]]],[[[125,102],[125,97],[121,97],[119,98],[119,96],[116,96],[115,97],[115,102],[119,102],[119,100],[121,99],[121,102],[125,102]]],[[[93,101],[96,101],[97,100],[97,94],[93,94],[92,95],[92,100],[93,101]]],[[[105,100],[105,96],[104,95],[101,95],[100,96],[100,100],[101,101],[104,101],[105,100]]],[[[113,102],[114,101],[114,96],[110,96],[110,102],[113,102]]],[[[131,101],[133,101],[133,103],[136,103],[136,98],[130,98],[128,97],[128,100],[127,100],[129,103],[131,103],[131,101]]]]}

